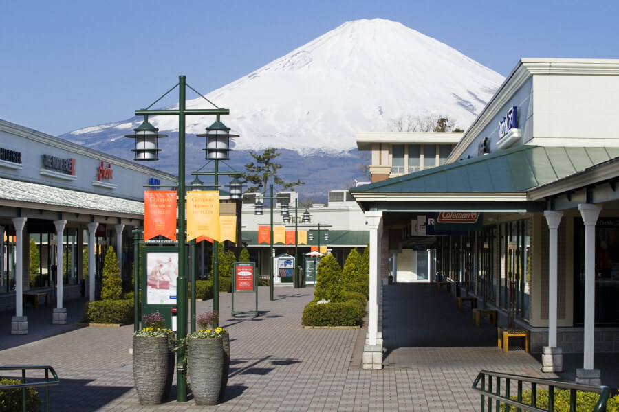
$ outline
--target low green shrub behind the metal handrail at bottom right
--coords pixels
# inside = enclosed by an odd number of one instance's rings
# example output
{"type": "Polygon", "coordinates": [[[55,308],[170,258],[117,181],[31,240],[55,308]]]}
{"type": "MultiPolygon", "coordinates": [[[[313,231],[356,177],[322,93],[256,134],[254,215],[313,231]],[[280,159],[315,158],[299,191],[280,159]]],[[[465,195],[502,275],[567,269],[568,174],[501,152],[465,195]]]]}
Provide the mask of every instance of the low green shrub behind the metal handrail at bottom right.
{"type": "MultiPolygon", "coordinates": [[[[531,389],[525,390],[522,393],[522,401],[526,404],[531,404],[531,389]]],[[[512,399],[517,399],[517,396],[510,396],[512,399]]],[[[592,411],[600,396],[593,392],[576,391],[576,412],[592,411]]],[[[548,408],[548,391],[547,389],[537,390],[536,407],[541,409],[548,408]]],[[[505,412],[505,405],[501,405],[501,412],[505,412]]],[[[510,406],[509,412],[516,412],[517,408],[510,406]]],[[[569,391],[556,389],[554,391],[554,411],[569,412],[569,391]]],[[[619,395],[609,398],[606,404],[607,412],[619,412],[619,395]]]]}

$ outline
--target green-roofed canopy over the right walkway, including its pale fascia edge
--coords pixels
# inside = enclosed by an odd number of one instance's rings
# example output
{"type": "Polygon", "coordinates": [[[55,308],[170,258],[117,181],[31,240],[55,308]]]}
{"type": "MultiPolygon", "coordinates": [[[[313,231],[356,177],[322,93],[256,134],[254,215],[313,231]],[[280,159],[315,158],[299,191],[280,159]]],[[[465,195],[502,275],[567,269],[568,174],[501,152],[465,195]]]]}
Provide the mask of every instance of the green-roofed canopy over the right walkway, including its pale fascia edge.
{"type": "Polygon", "coordinates": [[[350,192],[366,211],[541,211],[529,190],[616,157],[619,148],[517,146],[350,192]]]}

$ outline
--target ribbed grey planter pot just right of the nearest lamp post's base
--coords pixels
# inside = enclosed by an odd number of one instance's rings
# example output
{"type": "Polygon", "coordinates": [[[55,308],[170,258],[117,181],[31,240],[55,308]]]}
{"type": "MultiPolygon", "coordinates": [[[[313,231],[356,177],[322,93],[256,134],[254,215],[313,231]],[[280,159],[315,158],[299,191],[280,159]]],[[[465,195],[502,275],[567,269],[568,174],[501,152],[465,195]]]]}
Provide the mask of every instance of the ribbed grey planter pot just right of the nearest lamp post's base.
{"type": "Polygon", "coordinates": [[[223,339],[188,339],[187,369],[195,404],[216,405],[224,371],[223,339]]]}

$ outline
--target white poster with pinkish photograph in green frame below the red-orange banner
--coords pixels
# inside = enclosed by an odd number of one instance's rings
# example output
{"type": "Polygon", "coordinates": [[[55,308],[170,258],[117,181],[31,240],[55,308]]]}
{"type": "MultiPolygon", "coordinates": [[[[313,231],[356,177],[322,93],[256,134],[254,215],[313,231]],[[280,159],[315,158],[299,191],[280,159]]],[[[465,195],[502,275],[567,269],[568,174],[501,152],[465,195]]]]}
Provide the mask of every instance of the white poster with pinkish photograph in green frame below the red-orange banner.
{"type": "Polygon", "coordinates": [[[146,304],[175,305],[177,252],[146,253],[146,304]]]}

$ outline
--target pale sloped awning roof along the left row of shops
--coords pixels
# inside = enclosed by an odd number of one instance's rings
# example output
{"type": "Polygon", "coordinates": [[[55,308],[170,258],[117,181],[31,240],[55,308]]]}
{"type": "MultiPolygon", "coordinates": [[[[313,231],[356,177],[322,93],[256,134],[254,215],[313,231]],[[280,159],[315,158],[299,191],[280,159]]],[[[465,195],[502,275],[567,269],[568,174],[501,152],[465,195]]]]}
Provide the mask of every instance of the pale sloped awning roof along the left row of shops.
{"type": "Polygon", "coordinates": [[[143,202],[3,178],[0,178],[0,204],[101,212],[106,216],[144,216],[143,202]]]}

